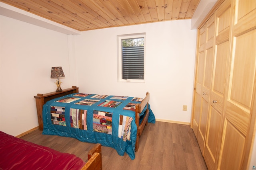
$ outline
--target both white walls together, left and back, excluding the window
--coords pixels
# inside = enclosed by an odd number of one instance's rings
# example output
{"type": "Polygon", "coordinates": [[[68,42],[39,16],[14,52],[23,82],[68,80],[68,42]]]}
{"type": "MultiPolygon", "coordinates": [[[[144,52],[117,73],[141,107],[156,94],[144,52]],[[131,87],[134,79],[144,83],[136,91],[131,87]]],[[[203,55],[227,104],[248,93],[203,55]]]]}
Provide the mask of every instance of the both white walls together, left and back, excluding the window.
{"type": "Polygon", "coordinates": [[[1,131],[15,136],[38,125],[34,96],[56,89],[52,66],[64,70],[62,88],[73,85],[80,92],[138,97],[149,91],[157,119],[190,122],[196,49],[190,20],[65,35],[0,17],[1,131]],[[116,36],[138,32],[146,32],[146,82],[117,82],[116,36]],[[182,105],[188,105],[188,111],[182,111],[182,105]]]}

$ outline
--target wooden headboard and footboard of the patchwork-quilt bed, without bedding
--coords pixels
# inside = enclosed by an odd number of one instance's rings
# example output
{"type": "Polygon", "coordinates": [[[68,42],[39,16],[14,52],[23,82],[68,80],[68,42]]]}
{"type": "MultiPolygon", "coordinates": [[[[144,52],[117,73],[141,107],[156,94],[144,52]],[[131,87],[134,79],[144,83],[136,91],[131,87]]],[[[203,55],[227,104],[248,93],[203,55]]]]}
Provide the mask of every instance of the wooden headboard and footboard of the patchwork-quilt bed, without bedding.
{"type": "MultiPolygon", "coordinates": [[[[34,96],[36,98],[36,110],[37,110],[37,117],[38,117],[38,125],[39,129],[42,131],[44,128],[43,125],[43,117],[42,117],[42,111],[43,106],[48,102],[49,100],[52,100],[54,98],[58,98],[61,96],[65,96],[72,93],[78,93],[78,87],[72,86],[72,88],[67,88],[62,90],[62,92],[50,92],[46,94],[37,94],[37,96],[34,96]]],[[[142,131],[145,127],[145,125],[148,124],[148,116],[149,116],[149,109],[148,109],[148,102],[149,102],[149,92],[146,93],[146,97],[142,100],[140,104],[136,105],[136,111],[135,111],[135,123],[137,125],[137,138],[136,138],[136,145],[135,145],[135,151],[138,151],[139,148],[139,137],[142,134],[142,131]],[[147,106],[145,116],[140,123],[140,113],[144,109],[144,107],[147,106]]]]}

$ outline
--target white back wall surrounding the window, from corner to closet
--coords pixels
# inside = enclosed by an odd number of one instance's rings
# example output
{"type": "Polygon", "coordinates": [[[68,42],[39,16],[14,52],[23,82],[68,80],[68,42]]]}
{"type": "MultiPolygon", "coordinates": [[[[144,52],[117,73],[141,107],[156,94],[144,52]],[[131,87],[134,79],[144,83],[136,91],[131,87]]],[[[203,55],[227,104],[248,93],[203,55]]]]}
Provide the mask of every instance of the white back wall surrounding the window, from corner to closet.
{"type": "Polygon", "coordinates": [[[75,43],[80,92],[144,97],[148,91],[156,119],[190,122],[196,54],[190,20],[85,31],[75,43]],[[117,35],[142,32],[146,82],[117,82],[117,35]]]}

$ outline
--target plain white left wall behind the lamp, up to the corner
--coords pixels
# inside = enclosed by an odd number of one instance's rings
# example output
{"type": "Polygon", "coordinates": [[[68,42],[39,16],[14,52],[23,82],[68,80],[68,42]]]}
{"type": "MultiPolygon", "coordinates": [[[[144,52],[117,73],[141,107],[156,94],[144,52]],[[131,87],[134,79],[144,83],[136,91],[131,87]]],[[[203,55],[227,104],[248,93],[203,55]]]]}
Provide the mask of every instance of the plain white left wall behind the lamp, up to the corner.
{"type": "Polygon", "coordinates": [[[66,34],[0,16],[0,131],[16,136],[38,126],[34,96],[56,90],[52,66],[64,70],[62,88],[76,85],[66,34]]]}

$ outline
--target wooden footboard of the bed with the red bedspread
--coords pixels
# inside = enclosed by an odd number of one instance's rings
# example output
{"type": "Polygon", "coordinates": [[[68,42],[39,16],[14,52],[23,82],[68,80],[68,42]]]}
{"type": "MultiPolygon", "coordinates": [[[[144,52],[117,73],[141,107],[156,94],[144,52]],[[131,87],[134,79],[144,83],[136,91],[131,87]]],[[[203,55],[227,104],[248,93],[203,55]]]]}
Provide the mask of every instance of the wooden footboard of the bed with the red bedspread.
{"type": "Polygon", "coordinates": [[[88,152],[88,162],[81,170],[102,170],[101,144],[97,143],[88,152]]]}

